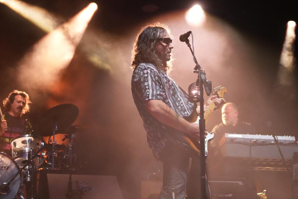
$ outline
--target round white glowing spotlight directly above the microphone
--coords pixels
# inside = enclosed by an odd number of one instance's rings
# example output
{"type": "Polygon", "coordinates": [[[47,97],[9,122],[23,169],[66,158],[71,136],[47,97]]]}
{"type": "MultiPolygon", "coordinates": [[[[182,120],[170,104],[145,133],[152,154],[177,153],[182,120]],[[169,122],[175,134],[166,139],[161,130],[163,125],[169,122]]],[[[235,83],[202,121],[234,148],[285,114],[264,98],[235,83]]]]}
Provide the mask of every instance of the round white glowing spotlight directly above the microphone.
{"type": "Polygon", "coordinates": [[[205,21],[206,16],[200,5],[194,5],[186,12],[185,19],[188,25],[200,26],[205,21]]]}

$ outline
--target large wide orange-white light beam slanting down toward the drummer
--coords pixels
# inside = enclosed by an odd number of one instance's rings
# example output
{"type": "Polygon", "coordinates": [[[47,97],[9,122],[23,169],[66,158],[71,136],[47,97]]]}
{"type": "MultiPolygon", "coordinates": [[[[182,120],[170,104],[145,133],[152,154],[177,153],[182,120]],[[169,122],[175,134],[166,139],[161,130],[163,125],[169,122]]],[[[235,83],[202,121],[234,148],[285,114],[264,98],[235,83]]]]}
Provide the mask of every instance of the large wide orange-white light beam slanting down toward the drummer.
{"type": "Polygon", "coordinates": [[[95,8],[88,5],[36,43],[19,63],[18,81],[28,90],[50,89],[72,60],[95,8]]]}

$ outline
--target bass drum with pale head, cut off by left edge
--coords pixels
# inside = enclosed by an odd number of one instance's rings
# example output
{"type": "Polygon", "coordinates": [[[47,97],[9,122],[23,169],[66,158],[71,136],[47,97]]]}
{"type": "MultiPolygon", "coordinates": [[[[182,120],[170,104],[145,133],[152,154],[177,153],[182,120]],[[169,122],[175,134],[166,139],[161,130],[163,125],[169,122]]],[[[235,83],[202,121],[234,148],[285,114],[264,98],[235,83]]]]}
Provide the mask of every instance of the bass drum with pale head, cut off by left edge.
{"type": "MultiPolygon", "coordinates": [[[[0,152],[0,184],[8,183],[11,177],[19,171],[16,162],[8,155],[0,152]]],[[[21,172],[13,179],[9,185],[7,194],[0,193],[1,199],[15,198],[17,193],[22,189],[22,175],[21,172]]]]}

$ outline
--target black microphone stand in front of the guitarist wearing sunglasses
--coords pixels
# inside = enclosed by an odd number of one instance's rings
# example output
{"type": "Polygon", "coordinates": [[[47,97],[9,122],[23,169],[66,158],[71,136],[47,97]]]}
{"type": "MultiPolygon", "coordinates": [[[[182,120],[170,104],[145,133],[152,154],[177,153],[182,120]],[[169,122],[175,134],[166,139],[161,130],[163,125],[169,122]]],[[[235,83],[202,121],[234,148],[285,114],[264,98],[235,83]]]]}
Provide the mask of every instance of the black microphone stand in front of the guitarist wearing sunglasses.
{"type": "Polygon", "coordinates": [[[196,66],[194,68],[194,73],[198,74],[198,79],[196,83],[200,85],[200,114],[202,115],[199,120],[200,125],[200,164],[201,164],[201,198],[206,199],[206,157],[205,157],[205,119],[204,119],[204,88],[206,94],[210,95],[210,90],[208,88],[208,84],[210,85],[210,81],[206,80],[205,71],[201,70],[200,64],[197,62],[196,57],[192,51],[191,45],[189,43],[189,39],[185,40],[185,43],[189,47],[192,52],[192,56],[196,66]],[[204,86],[204,87],[203,87],[204,86]]]}

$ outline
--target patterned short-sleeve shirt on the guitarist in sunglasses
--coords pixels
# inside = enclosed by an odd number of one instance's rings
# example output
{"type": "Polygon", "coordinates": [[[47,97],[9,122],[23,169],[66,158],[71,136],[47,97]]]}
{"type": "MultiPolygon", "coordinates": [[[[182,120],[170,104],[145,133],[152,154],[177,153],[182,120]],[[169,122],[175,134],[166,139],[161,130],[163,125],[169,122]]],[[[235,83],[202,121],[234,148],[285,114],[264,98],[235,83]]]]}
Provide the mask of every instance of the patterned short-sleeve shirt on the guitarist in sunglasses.
{"type": "Polygon", "coordinates": [[[157,70],[151,63],[140,63],[134,70],[131,91],[147,132],[149,147],[156,159],[159,159],[160,151],[165,147],[165,143],[170,141],[167,135],[169,128],[148,113],[145,101],[162,100],[181,117],[188,117],[192,113],[193,103],[172,78],[164,71],[157,70]]]}

